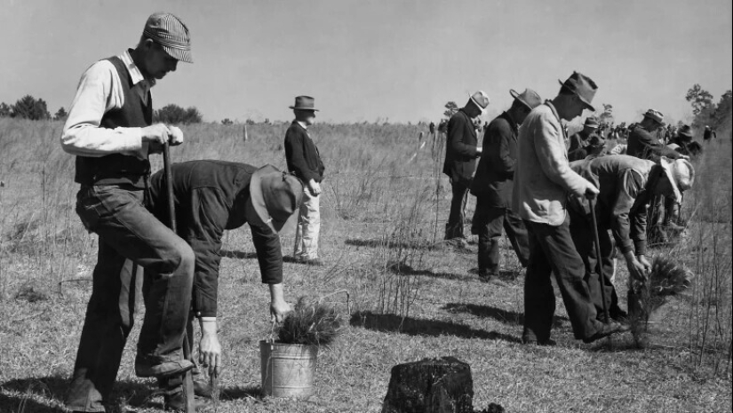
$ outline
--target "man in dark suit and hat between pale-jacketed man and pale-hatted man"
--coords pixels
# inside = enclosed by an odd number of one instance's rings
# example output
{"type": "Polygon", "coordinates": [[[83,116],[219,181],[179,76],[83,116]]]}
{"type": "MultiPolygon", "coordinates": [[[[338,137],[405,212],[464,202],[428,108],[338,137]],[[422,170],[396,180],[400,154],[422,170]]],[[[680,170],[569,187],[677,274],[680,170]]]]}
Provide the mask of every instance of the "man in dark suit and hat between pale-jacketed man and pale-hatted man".
{"type": "Polygon", "coordinates": [[[498,275],[502,227],[522,266],[530,259],[527,228],[512,210],[512,189],[519,125],[542,99],[531,89],[522,94],[511,90],[509,94],[514,97],[512,107],[491,121],[484,132],[484,153],[471,183],[471,194],[476,197],[471,233],[479,236],[479,278],[485,282],[498,275]]]}

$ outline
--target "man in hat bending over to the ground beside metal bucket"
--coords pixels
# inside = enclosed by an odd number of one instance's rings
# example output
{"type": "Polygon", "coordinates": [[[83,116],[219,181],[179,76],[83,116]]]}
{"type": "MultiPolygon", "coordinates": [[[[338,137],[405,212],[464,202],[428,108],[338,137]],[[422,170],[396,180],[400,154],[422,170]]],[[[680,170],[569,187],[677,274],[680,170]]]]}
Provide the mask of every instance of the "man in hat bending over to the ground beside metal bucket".
{"type": "MultiPolygon", "coordinates": [[[[270,314],[282,321],[291,307],[283,297],[283,252],[277,232],[299,210],[303,184],[272,165],[257,169],[244,163],[191,161],[173,164],[171,171],[178,234],[195,254],[191,309],[202,331],[199,362],[210,374],[218,373],[222,353],[217,336],[217,290],[224,231],[249,224],[262,282],[269,285],[270,314]]],[[[158,171],[151,179],[150,208],[164,222],[168,219],[166,196],[164,174],[158,171]]],[[[147,291],[145,297],[147,311],[163,306],[147,291]]],[[[188,339],[193,343],[191,327],[188,339]]],[[[166,409],[183,406],[181,383],[180,376],[158,381],[165,392],[166,409]]],[[[203,379],[195,379],[194,387],[197,396],[211,397],[203,379]]]]}

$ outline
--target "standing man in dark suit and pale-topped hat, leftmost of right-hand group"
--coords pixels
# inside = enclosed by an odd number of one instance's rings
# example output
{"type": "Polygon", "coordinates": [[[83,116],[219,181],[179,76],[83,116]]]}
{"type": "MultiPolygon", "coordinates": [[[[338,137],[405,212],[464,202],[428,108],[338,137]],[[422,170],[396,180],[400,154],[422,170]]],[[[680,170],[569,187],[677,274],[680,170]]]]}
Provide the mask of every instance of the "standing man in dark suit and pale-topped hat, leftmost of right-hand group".
{"type": "Polygon", "coordinates": [[[448,136],[445,142],[445,163],[442,173],[450,178],[453,198],[450,201],[450,215],[445,225],[445,239],[465,239],[466,196],[476,169],[476,158],[481,156],[482,147],[477,147],[474,118],[489,106],[489,96],[483,91],[475,92],[448,121],[448,136]]]}

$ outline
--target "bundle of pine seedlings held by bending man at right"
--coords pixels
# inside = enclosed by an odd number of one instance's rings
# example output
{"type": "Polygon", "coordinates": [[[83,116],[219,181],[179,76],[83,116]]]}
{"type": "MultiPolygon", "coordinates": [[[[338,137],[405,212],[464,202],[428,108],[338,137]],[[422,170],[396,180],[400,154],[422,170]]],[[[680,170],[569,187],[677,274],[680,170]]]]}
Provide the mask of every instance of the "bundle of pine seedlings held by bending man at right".
{"type": "Polygon", "coordinates": [[[632,282],[628,307],[637,346],[644,347],[648,344],[649,316],[665,305],[671,296],[687,290],[694,276],[686,266],[673,258],[657,255],[652,258],[648,279],[645,282],[632,282]]]}

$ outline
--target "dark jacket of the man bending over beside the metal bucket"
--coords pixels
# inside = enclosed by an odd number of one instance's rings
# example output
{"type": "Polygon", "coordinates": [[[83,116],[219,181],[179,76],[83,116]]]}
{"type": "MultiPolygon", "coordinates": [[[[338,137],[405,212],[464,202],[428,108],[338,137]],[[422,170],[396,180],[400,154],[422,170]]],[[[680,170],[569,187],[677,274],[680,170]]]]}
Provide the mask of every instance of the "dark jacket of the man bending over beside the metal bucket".
{"type": "MultiPolygon", "coordinates": [[[[193,309],[197,316],[215,317],[219,288],[221,237],[224,230],[247,222],[244,203],[250,198],[250,180],[257,168],[244,163],[191,161],[171,166],[178,234],[196,257],[193,309]]],[[[163,171],[150,182],[150,210],[168,222],[163,171]]],[[[268,226],[250,224],[262,282],[283,282],[280,237],[268,226]]]]}

